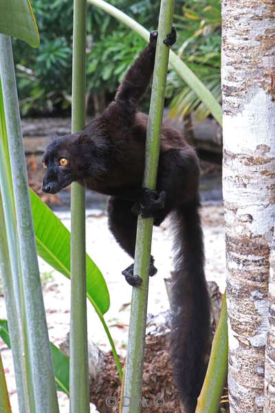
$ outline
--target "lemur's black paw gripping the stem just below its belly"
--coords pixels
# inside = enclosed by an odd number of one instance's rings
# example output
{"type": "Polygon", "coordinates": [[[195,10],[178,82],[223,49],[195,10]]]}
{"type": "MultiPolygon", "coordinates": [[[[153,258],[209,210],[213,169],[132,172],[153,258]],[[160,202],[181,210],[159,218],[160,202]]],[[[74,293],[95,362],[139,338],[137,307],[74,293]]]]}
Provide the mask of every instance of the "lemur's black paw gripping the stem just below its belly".
{"type": "Polygon", "coordinates": [[[133,205],[132,212],[135,215],[142,215],[142,218],[155,218],[159,210],[165,206],[165,192],[152,191],[142,188],[139,200],[133,205]]]}

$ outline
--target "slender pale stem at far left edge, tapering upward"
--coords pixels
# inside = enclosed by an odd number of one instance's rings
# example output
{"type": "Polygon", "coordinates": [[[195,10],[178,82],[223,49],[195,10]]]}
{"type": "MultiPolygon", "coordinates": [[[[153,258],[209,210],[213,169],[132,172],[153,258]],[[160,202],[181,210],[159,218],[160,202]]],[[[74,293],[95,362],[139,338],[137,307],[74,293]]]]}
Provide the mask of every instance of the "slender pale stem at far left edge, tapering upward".
{"type": "Polygon", "coordinates": [[[26,413],[34,410],[30,352],[26,331],[25,307],[22,299],[22,274],[17,238],[14,196],[8,136],[5,126],[3,95],[0,81],[0,275],[3,281],[5,307],[11,326],[10,341],[14,359],[15,379],[19,410],[26,413]],[[5,208],[3,208],[3,204],[5,208]]]}

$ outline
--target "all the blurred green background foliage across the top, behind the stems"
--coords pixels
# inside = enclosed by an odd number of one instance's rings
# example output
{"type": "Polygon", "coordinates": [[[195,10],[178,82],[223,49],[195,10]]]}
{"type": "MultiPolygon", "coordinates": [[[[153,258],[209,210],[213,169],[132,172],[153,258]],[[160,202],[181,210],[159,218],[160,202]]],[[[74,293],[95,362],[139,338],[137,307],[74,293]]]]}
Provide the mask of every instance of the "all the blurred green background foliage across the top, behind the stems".
{"type": "MultiPolygon", "coordinates": [[[[113,6],[133,17],[148,30],[157,27],[159,2],[111,0],[113,6]]],[[[41,33],[38,49],[14,41],[14,57],[21,112],[24,115],[55,114],[71,107],[73,3],[36,0],[34,13],[41,33]]],[[[177,0],[176,47],[190,68],[220,96],[220,1],[177,0]]],[[[100,111],[110,100],[129,65],[145,45],[143,39],[98,8],[88,8],[87,87],[89,112],[100,111]]],[[[168,96],[173,114],[185,107],[208,114],[175,73],[168,76],[168,96]],[[187,100],[187,104],[186,104],[187,100]]],[[[148,99],[144,101],[147,109],[148,99]]],[[[187,111],[188,112],[188,111],[187,111]]]]}

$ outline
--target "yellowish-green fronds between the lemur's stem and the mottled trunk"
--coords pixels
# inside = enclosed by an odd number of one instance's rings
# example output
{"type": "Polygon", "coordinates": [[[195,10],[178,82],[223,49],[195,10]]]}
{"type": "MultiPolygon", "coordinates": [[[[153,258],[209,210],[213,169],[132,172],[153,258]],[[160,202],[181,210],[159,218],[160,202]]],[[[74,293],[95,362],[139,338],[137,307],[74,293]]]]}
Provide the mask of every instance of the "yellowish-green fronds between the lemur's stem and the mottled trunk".
{"type": "MultiPolygon", "coordinates": [[[[221,1],[186,0],[183,14],[175,15],[178,53],[190,69],[221,100],[221,1]]],[[[168,76],[171,114],[184,116],[195,110],[199,120],[209,111],[195,92],[175,72],[168,76]]]]}

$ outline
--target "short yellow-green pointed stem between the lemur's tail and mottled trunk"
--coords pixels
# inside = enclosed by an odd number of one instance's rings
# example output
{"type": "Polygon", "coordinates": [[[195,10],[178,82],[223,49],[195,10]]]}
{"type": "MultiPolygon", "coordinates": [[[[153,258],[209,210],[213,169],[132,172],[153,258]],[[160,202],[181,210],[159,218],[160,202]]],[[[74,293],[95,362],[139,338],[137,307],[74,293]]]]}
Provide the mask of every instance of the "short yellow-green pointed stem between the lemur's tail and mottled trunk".
{"type": "Polygon", "coordinates": [[[228,372],[228,324],[226,311],[226,297],[223,295],[223,304],[219,323],[212,342],[212,349],[206,378],[197,402],[196,413],[219,412],[221,394],[228,372]]]}

